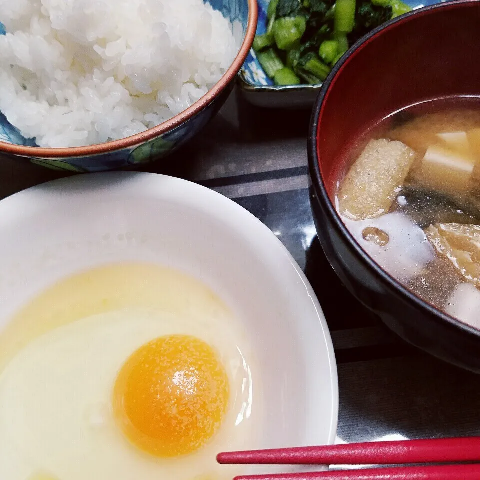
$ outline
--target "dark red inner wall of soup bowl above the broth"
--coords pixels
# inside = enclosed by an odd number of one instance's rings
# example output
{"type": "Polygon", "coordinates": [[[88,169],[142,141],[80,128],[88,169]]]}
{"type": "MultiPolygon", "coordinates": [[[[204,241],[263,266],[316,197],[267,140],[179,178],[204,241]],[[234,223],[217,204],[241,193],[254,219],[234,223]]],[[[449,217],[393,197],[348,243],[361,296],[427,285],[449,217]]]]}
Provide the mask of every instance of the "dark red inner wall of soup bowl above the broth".
{"type": "Polygon", "coordinates": [[[480,1],[412,12],[353,47],[318,102],[317,155],[330,199],[345,149],[366,130],[405,106],[453,95],[480,95],[480,1]]]}

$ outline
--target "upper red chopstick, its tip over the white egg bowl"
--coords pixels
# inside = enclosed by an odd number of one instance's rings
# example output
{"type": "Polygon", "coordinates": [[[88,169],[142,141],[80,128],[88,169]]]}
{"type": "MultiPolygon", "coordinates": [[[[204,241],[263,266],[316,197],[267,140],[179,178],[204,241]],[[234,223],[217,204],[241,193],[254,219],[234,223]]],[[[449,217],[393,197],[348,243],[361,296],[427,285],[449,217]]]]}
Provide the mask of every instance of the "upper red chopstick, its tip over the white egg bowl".
{"type": "MultiPolygon", "coordinates": [[[[398,465],[480,462],[480,437],[233,451],[219,453],[217,461],[223,464],[249,465],[398,465]]],[[[480,470],[477,470],[478,472],[480,470]]],[[[475,480],[480,480],[480,473],[475,480]]]]}

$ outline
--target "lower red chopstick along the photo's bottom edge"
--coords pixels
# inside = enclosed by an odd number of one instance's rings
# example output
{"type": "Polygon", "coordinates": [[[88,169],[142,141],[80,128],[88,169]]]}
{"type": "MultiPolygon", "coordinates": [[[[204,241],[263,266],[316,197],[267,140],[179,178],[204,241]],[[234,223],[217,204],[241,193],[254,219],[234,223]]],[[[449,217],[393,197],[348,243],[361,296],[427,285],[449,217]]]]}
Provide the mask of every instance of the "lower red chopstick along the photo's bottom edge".
{"type": "Polygon", "coordinates": [[[233,480],[478,480],[480,465],[410,466],[365,470],[236,476],[233,480]]]}

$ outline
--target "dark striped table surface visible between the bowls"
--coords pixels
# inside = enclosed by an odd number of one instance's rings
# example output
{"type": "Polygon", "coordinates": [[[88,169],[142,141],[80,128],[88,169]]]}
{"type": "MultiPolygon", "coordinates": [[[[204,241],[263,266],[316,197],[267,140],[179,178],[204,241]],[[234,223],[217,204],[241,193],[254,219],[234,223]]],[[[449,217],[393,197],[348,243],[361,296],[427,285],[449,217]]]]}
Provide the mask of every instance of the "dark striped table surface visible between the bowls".
{"type": "MultiPolygon", "coordinates": [[[[316,291],[338,363],[338,442],[476,435],[480,376],[398,339],[341,284],[316,237],[307,190],[309,111],[267,110],[234,90],[188,145],[143,168],[233,199],[289,249],[316,291]]],[[[62,173],[0,157],[0,198],[62,173]]]]}

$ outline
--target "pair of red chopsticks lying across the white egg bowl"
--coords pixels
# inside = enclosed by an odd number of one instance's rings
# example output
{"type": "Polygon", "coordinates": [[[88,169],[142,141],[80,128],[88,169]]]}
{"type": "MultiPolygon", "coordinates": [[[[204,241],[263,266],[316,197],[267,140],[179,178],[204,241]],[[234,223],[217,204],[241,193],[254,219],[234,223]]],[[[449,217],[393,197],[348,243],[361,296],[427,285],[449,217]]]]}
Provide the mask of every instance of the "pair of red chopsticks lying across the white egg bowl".
{"type": "Polygon", "coordinates": [[[234,480],[480,480],[480,437],[378,441],[346,445],[219,453],[218,463],[246,465],[443,465],[394,466],[271,475],[234,480]],[[477,464],[464,464],[477,462],[477,464]]]}

